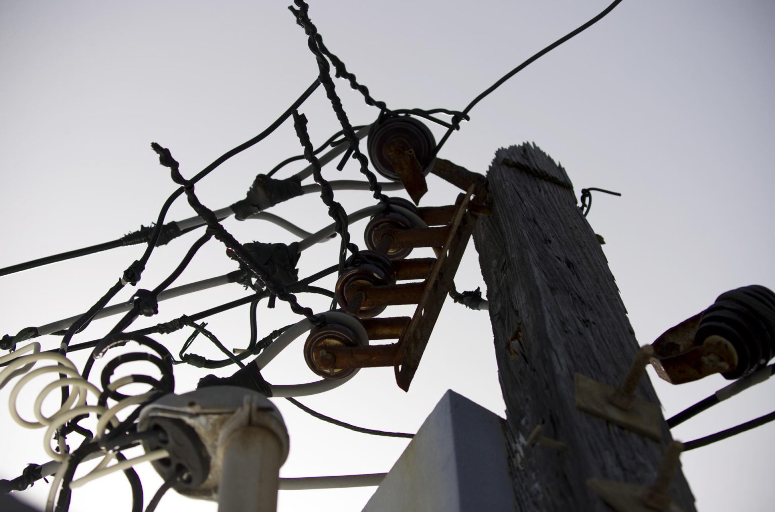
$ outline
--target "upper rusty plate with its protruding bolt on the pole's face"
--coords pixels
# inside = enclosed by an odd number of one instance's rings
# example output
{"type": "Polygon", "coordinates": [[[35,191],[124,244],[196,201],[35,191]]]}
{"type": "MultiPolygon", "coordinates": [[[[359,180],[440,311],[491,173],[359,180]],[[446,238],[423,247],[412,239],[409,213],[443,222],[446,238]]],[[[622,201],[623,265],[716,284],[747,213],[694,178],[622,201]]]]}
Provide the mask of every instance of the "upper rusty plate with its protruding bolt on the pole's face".
{"type": "Polygon", "coordinates": [[[577,373],[576,408],[654,441],[661,441],[663,421],[660,406],[633,394],[652,355],[650,345],[641,348],[618,388],[577,373]]]}

